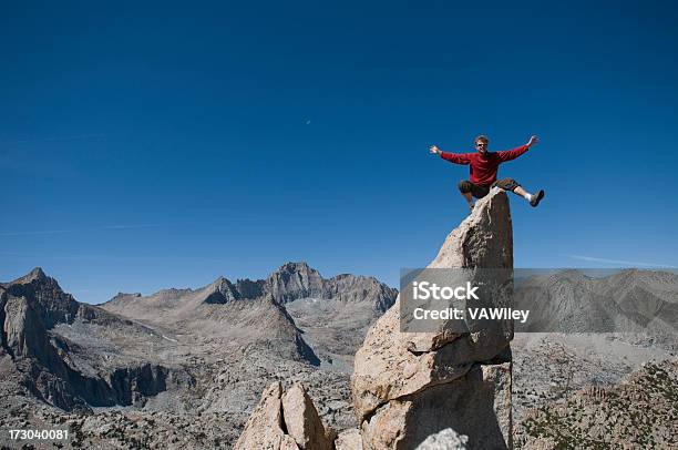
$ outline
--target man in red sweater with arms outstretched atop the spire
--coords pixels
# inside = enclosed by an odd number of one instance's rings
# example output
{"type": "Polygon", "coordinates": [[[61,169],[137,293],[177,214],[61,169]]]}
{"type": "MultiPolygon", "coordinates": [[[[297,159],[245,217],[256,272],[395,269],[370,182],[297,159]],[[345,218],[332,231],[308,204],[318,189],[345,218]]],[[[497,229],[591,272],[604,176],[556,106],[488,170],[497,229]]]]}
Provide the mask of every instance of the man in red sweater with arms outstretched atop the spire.
{"type": "Polygon", "coordinates": [[[471,166],[471,180],[464,180],[459,183],[459,191],[469,203],[469,213],[473,211],[473,197],[484,197],[494,186],[520,195],[530,202],[532,206],[538,205],[542,198],[544,198],[544,191],[540,190],[536,194],[530,194],[513,178],[496,180],[499,165],[506,161],[515,160],[527,152],[531,146],[538,143],[537,136],[530,137],[530,142],[525,145],[505,152],[489,152],[489,143],[487,136],[480,135],[475,137],[477,153],[448,153],[442,152],[435,145],[430,147],[431,153],[440,155],[443,160],[454,164],[469,164],[471,166]]]}

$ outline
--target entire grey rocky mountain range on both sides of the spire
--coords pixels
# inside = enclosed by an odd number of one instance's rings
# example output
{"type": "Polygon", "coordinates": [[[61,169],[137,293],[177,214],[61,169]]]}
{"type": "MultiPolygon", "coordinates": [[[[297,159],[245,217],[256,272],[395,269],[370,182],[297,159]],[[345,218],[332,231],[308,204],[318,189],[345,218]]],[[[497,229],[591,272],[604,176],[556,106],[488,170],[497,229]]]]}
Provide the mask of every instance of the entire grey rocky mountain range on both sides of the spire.
{"type": "MultiPolygon", "coordinates": [[[[534,420],[527,411],[546,400],[567,406],[568,390],[675,358],[677,279],[566,270],[522,280],[516,295],[540,327],[572,327],[514,340],[516,420],[534,420]],[[582,333],[596,327],[615,333],[582,333]]],[[[34,268],[0,283],[0,426],[59,423],[74,448],[229,448],[266,386],[300,381],[325,423],[355,429],[355,354],[397,296],[373,277],[325,278],[287,263],[265,279],[218,277],[89,305],[34,268]]],[[[526,441],[527,428],[518,430],[516,442],[526,441]]]]}

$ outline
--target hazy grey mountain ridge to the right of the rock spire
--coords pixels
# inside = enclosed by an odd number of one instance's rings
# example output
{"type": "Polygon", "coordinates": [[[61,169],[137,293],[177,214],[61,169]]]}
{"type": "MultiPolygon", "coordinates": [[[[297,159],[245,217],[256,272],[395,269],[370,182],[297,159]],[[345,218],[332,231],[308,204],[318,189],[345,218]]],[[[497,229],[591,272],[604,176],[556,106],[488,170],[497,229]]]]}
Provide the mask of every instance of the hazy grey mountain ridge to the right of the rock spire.
{"type": "Polygon", "coordinates": [[[641,334],[678,349],[678,275],[670,272],[536,275],[516,283],[514,305],[531,311],[520,331],[641,334]]]}

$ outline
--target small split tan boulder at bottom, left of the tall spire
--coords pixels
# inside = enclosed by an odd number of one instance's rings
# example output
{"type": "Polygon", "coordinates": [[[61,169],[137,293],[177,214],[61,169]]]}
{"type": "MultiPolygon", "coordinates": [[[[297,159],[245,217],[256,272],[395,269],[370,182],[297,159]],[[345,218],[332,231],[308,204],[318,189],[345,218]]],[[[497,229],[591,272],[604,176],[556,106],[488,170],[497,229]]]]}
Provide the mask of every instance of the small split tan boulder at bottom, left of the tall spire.
{"type": "Polygon", "coordinates": [[[235,449],[331,450],[333,438],[300,383],[282,392],[280,382],[274,382],[261,393],[235,449]]]}

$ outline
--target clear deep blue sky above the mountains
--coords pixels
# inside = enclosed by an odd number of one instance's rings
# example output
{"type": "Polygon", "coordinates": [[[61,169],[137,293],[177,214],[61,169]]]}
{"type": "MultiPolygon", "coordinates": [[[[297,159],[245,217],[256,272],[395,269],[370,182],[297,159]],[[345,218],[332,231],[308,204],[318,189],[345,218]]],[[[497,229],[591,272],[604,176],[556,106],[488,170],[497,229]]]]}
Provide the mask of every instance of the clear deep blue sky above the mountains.
{"type": "Polygon", "coordinates": [[[516,266],[678,266],[675,3],[464,3],[4,2],[0,279],[397,286],[466,212],[428,146],[480,133],[542,140],[500,171],[546,190],[516,266]]]}

